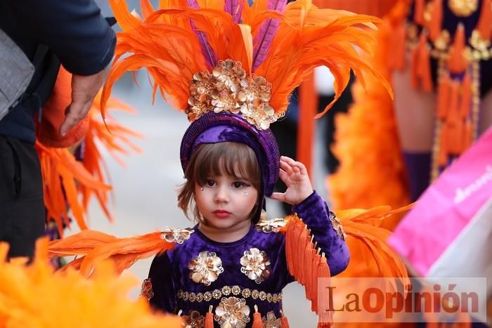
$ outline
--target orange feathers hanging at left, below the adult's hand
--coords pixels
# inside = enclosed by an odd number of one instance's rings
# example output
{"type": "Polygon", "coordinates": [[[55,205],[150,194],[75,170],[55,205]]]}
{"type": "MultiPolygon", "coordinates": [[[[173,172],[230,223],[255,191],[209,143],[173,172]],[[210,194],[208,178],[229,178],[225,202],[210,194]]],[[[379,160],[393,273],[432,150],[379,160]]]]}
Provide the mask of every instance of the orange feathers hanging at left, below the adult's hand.
{"type": "MultiPolygon", "coordinates": [[[[108,107],[134,112],[128,105],[115,99],[108,101],[108,107]]],[[[112,188],[106,183],[108,173],[103,170],[101,147],[108,150],[108,153],[122,165],[123,161],[118,155],[129,155],[127,148],[134,152],[141,152],[140,148],[131,141],[132,138],[141,138],[140,134],[120,125],[112,117],[108,117],[104,124],[98,119],[99,116],[99,96],[97,96],[89,112],[83,162],[78,162],[67,148],[51,148],[36,143],[44,181],[47,218],[48,221],[56,222],[62,237],[64,225],[70,228],[67,206],[71,209],[79,228],[87,228],[86,212],[92,195],[96,196],[105,215],[112,221],[108,209],[109,192],[112,188]],[[82,195],[82,199],[79,199],[79,195],[82,195]]],[[[77,145],[72,146],[71,149],[75,147],[77,145]]]]}

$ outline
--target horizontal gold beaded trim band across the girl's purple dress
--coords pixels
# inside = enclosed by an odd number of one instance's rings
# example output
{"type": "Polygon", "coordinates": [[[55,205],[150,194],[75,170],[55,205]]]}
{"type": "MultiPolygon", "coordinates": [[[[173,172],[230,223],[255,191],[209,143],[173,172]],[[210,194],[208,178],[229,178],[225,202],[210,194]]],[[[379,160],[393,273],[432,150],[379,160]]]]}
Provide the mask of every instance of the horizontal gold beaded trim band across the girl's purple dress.
{"type": "Polygon", "coordinates": [[[194,302],[209,302],[212,299],[220,299],[222,296],[242,296],[244,299],[252,298],[254,300],[259,299],[261,301],[267,301],[268,303],[279,303],[282,301],[282,292],[278,294],[266,293],[265,291],[259,291],[257,289],[242,289],[239,286],[224,286],[221,289],[214,289],[213,291],[205,291],[205,293],[192,293],[179,289],[178,299],[183,301],[194,302]]]}

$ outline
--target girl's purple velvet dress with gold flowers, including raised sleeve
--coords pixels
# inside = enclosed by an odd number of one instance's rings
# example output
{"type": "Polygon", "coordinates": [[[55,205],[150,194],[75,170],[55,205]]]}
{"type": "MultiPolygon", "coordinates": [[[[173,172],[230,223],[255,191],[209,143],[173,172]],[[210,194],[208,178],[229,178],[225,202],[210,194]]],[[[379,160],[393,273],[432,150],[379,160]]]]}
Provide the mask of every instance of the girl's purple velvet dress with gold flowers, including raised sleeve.
{"type": "MultiPolygon", "coordinates": [[[[332,227],[327,204],[313,192],[293,211],[311,229],[332,275],[341,273],[349,263],[349,249],[332,227]]],[[[150,304],[185,315],[186,327],[204,327],[209,306],[214,327],[251,327],[255,305],[269,327],[280,327],[282,289],[292,281],[285,234],[252,225],[235,242],[214,242],[195,226],[189,240],[154,258],[146,283],[150,304]]]]}

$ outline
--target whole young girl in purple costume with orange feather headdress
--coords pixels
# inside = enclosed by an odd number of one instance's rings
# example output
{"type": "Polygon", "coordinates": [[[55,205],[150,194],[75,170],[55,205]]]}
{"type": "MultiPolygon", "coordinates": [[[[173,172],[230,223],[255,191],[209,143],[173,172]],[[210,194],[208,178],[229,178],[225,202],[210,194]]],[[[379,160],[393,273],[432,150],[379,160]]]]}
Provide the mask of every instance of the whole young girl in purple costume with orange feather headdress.
{"type": "MultiPolygon", "coordinates": [[[[156,308],[186,316],[186,327],[287,327],[282,289],[294,280],[306,287],[318,327],[329,326],[328,289],[322,287],[347,267],[345,233],[313,192],[304,165],[280,157],[269,126],[284,116],[290,93],[316,66],[335,75],[335,99],[350,68],[380,77],[354,51],[367,50],[371,40],[357,26],[373,27],[377,19],[318,9],[309,0],[252,6],[168,0],[160,1],[159,11],[141,1],[143,18],[123,1],[110,3],[124,32],[102,107],[116,79],[147,67],[155,91],[186,112],[191,124],[181,141],[186,183],[179,206],[199,223],[127,239],[86,230],[53,244],[53,254],[82,255],[70,266],[86,275],[101,258],[112,258],[122,271],[158,254],[142,294],[156,308]],[[273,193],[279,177],[287,190],[273,193]],[[261,220],[265,197],[292,204],[294,215],[261,220]]],[[[354,222],[354,231],[370,236],[374,220],[370,229],[361,222],[354,222]]],[[[385,272],[401,275],[403,264],[379,249],[382,241],[370,242],[385,272]]]]}

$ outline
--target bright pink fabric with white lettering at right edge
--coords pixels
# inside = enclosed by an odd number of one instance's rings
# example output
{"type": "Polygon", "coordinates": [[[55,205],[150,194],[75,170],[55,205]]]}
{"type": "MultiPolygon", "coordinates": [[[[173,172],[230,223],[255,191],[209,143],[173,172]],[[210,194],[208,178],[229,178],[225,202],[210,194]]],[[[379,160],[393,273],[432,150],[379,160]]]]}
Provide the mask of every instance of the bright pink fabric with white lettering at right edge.
{"type": "Polygon", "coordinates": [[[389,238],[422,276],[492,197],[492,128],[444,171],[389,238]]]}

